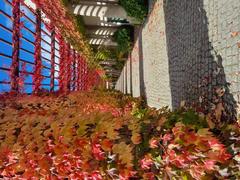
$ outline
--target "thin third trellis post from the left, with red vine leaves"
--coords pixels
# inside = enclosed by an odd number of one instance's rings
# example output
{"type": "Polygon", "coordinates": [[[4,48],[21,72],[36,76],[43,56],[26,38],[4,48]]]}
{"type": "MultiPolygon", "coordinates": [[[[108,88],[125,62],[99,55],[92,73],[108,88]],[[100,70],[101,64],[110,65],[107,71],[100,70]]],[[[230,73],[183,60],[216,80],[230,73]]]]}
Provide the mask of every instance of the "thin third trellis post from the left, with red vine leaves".
{"type": "Polygon", "coordinates": [[[51,84],[50,84],[50,91],[54,91],[54,76],[55,74],[55,29],[52,27],[51,33],[51,84]]]}

